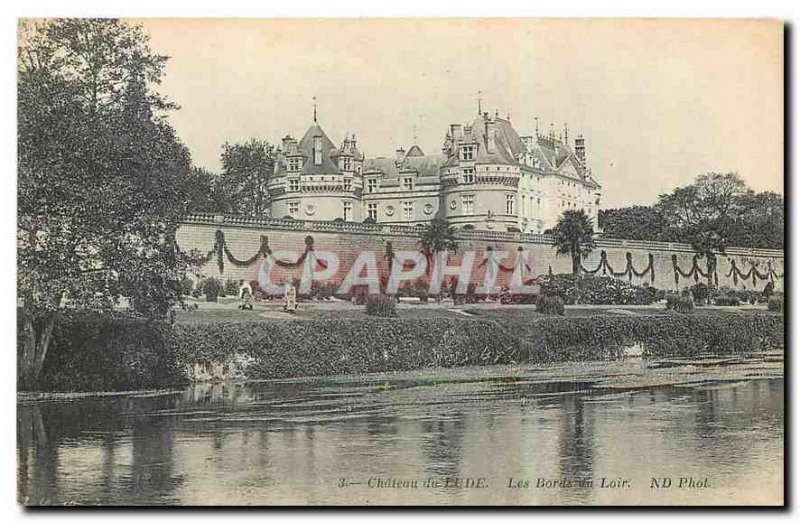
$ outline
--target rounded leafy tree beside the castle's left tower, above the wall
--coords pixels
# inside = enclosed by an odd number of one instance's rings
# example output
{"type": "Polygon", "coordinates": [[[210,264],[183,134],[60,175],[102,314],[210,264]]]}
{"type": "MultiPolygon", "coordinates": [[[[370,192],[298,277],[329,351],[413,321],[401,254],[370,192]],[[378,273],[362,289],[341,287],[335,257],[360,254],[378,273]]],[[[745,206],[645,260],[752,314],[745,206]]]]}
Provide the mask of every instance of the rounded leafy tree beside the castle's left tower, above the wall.
{"type": "Polygon", "coordinates": [[[269,212],[267,184],[275,168],[275,148],[257,139],[222,146],[222,190],[230,211],[246,216],[269,212]]]}

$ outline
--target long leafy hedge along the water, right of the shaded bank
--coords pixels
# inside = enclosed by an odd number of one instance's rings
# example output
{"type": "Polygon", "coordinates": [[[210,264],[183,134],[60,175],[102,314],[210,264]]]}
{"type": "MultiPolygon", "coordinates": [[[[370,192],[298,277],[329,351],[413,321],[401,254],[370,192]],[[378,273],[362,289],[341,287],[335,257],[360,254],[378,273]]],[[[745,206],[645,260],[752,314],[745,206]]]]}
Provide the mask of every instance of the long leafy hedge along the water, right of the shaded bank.
{"type": "Polygon", "coordinates": [[[779,314],[545,316],[499,322],[468,318],[313,319],[175,326],[183,364],[243,355],[250,379],[389,372],[476,364],[620,357],[640,343],[648,356],[696,356],[783,348],[779,314]]]}

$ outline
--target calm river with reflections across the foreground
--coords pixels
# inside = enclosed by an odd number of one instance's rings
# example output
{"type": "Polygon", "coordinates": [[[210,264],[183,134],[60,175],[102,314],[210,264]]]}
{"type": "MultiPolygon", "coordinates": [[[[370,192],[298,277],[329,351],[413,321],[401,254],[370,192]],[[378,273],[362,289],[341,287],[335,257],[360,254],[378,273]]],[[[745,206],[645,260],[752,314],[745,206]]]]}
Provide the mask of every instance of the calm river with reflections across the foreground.
{"type": "Polygon", "coordinates": [[[781,352],[18,398],[28,505],[780,504],[781,352]]]}

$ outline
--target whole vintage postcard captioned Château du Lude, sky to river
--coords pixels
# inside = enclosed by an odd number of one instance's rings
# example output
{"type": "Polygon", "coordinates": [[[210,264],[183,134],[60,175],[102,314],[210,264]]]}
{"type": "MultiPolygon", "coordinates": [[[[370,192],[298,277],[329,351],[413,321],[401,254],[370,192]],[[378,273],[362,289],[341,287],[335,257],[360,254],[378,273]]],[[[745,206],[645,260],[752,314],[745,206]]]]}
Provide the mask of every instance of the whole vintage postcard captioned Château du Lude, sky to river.
{"type": "Polygon", "coordinates": [[[776,20],[20,19],[24,506],[782,506],[776,20]]]}

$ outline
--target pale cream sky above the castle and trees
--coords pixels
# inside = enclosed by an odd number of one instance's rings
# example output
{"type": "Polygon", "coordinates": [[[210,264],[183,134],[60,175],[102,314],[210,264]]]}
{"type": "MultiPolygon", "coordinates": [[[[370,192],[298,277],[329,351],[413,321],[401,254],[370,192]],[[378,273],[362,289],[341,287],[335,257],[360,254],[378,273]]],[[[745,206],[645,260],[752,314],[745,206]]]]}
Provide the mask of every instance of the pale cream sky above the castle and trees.
{"type": "Polygon", "coordinates": [[[450,123],[511,113],[586,138],[603,207],[649,204],[709,171],[783,193],[783,27],[722,20],[146,20],[161,92],[197,165],[319,122],[367,157],[441,149],[450,123]]]}

